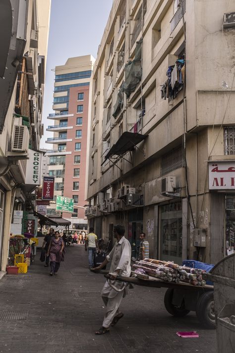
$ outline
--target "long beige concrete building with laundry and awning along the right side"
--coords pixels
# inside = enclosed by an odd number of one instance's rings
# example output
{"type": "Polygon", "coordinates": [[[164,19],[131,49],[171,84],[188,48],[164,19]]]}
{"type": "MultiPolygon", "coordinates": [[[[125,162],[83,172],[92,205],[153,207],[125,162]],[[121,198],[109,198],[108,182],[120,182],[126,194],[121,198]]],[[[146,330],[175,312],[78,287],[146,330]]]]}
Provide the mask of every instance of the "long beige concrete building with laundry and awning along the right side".
{"type": "Polygon", "coordinates": [[[124,223],[133,256],[141,231],[162,260],[215,264],[234,251],[232,11],[113,3],[93,71],[85,213],[106,239],[124,223]]]}

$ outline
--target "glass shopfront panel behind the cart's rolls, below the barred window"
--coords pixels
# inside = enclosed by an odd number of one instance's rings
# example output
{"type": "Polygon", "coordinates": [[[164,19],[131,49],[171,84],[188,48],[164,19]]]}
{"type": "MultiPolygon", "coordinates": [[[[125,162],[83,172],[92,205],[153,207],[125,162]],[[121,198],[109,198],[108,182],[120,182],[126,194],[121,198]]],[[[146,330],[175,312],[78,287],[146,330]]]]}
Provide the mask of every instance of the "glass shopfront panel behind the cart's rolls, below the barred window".
{"type": "Polygon", "coordinates": [[[160,259],[182,263],[182,204],[160,207],[160,259]]]}

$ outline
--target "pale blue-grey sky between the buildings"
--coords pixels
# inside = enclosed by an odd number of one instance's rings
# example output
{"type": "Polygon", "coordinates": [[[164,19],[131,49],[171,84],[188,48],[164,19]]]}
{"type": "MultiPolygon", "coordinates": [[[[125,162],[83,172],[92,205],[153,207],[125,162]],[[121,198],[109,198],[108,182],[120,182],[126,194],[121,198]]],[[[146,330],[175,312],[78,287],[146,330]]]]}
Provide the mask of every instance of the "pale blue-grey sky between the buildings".
{"type": "Polygon", "coordinates": [[[48,125],[53,125],[47,119],[54,112],[55,72],[52,70],[64,65],[68,58],[91,54],[96,59],[112,4],[113,0],[52,0],[41,148],[52,148],[52,144],[45,143],[48,137],[53,137],[53,133],[46,131],[48,125]]]}

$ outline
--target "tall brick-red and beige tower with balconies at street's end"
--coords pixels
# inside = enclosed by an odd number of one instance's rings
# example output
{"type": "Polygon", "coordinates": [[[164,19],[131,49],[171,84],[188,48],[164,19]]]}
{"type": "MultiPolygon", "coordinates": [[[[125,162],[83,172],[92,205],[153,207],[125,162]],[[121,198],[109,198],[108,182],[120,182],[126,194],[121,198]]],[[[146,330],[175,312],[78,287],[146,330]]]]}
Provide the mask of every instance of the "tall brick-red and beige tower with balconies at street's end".
{"type": "MultiPolygon", "coordinates": [[[[55,125],[47,129],[54,132],[54,137],[46,141],[53,143],[53,150],[46,153],[49,175],[55,176],[55,200],[57,195],[74,200],[73,213],[62,214],[71,221],[73,229],[87,227],[84,217],[85,175],[93,63],[93,57],[87,55],[69,58],[65,65],[56,67],[55,113],[48,117],[55,120],[55,125]]],[[[58,213],[56,204],[51,204],[47,212],[48,215],[58,213]]]]}

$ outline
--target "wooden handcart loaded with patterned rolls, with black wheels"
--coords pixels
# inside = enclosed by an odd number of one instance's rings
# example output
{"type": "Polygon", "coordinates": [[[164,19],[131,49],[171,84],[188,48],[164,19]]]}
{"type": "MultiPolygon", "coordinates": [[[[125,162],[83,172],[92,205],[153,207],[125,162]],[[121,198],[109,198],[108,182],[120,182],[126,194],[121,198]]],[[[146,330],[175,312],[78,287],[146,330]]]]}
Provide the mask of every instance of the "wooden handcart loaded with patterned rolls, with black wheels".
{"type": "MultiPolygon", "coordinates": [[[[117,276],[117,281],[152,288],[167,288],[164,304],[167,311],[176,317],[183,317],[195,311],[199,322],[208,329],[215,328],[213,285],[206,284],[206,271],[179,266],[173,262],[154,259],[136,261],[131,277],[117,276]]],[[[102,272],[100,272],[102,273],[102,272]]],[[[107,272],[103,273],[114,287],[107,272]]]]}

